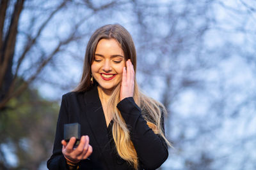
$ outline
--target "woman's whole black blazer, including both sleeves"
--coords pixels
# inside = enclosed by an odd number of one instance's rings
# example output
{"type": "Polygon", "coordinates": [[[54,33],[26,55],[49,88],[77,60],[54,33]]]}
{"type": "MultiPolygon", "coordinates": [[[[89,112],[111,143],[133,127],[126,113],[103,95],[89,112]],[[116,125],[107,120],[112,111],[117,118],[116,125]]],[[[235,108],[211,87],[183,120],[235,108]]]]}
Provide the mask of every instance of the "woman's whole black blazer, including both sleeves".
{"type": "MultiPolygon", "coordinates": [[[[157,169],[168,157],[166,143],[148,127],[132,97],[120,101],[117,108],[129,127],[131,140],[140,162],[139,169],[157,169]]],[[[79,162],[79,169],[133,169],[126,161],[113,157],[108,127],[96,85],[88,92],[69,92],[63,95],[54,148],[51,158],[47,161],[49,169],[67,169],[65,157],[61,152],[63,125],[75,122],[81,124],[81,136],[88,135],[93,148],[92,155],[79,162]]]]}

